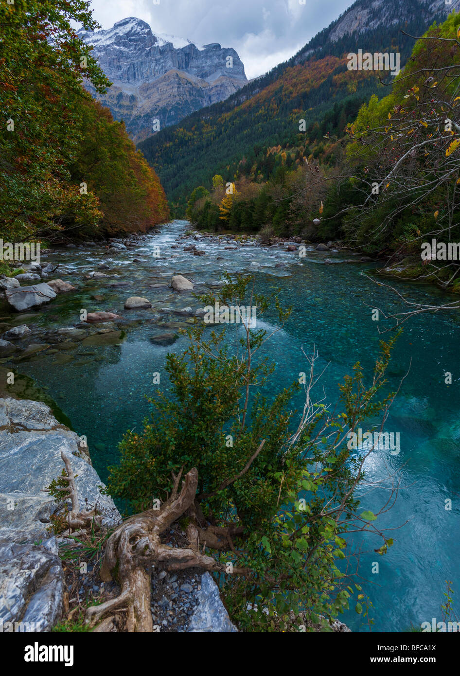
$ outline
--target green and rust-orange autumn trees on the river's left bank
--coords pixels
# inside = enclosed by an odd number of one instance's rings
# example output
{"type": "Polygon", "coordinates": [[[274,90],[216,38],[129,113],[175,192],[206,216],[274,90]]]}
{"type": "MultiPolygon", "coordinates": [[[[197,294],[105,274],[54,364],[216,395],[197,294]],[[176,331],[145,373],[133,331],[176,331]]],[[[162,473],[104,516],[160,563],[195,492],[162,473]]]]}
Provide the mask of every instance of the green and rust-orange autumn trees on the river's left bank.
{"type": "Polygon", "coordinates": [[[0,230],[5,241],[93,239],[168,220],[163,188],[82,89],[110,84],[71,22],[97,27],[88,3],[0,5],[0,230]]]}

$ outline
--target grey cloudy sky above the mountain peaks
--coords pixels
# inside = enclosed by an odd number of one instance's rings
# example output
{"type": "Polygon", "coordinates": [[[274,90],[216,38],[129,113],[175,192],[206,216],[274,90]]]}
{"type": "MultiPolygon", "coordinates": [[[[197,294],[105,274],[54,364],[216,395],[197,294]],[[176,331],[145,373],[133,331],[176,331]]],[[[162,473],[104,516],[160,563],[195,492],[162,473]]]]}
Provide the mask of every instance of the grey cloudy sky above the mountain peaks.
{"type": "Polygon", "coordinates": [[[206,45],[233,47],[248,78],[286,61],[353,0],[91,0],[102,28],[128,16],[206,45]],[[155,4],[157,3],[157,4],[155,4]]]}

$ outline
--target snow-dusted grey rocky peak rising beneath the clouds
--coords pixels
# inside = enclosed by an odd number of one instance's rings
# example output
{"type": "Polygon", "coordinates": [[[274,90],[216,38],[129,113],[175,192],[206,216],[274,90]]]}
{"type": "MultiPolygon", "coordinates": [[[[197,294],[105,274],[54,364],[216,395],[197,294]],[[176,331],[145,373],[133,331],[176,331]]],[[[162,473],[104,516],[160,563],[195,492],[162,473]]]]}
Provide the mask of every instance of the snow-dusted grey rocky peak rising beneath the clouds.
{"type": "Polygon", "coordinates": [[[123,119],[135,141],[184,116],[226,99],[246,82],[245,67],[234,49],[218,43],[195,45],[155,34],[149,24],[126,18],[109,30],[78,32],[93,45],[93,56],[113,86],[105,95],[88,91],[123,119]]]}

